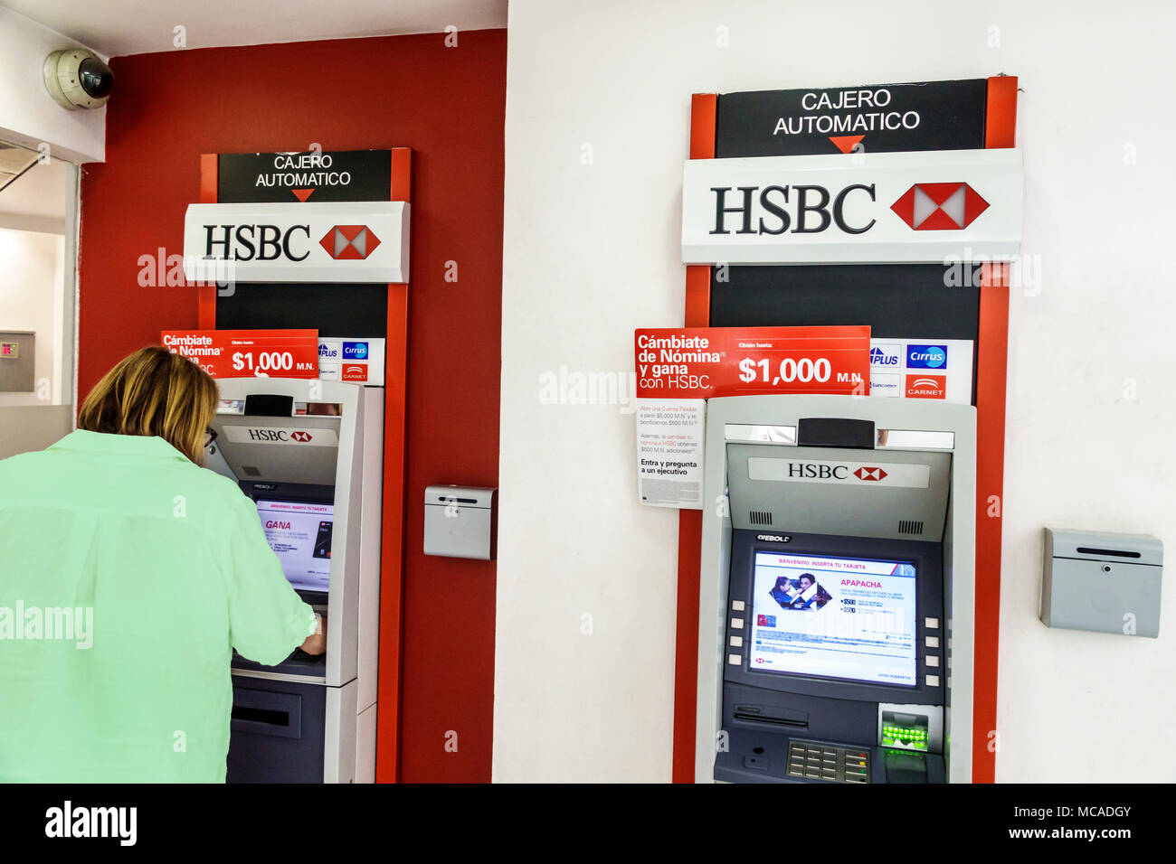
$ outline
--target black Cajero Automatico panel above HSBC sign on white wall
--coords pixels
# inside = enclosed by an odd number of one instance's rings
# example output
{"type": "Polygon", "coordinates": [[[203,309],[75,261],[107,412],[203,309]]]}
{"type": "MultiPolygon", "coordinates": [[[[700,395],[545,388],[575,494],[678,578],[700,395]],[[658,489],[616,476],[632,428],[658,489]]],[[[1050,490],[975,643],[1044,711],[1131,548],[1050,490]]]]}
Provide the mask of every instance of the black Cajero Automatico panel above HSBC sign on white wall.
{"type": "Polygon", "coordinates": [[[982,78],[726,93],[715,156],[982,149],[987,100],[982,78]]]}

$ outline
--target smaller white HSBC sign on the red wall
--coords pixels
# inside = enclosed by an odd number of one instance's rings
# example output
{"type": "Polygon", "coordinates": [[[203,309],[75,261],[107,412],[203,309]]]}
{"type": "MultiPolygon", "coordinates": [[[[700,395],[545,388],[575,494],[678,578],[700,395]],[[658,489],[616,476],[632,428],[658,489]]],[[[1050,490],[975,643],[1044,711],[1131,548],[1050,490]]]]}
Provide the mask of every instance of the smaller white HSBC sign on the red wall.
{"type": "Polygon", "coordinates": [[[192,281],[407,282],[408,203],[307,201],[188,205],[192,281]]]}

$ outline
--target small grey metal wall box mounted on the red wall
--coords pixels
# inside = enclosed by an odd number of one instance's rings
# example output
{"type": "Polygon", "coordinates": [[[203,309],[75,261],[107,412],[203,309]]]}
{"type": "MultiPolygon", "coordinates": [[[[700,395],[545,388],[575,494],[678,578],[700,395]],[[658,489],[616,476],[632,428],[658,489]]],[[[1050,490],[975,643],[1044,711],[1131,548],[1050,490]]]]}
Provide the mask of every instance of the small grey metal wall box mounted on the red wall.
{"type": "Polygon", "coordinates": [[[430,485],[425,490],[425,554],[494,561],[497,489],[430,485]]]}

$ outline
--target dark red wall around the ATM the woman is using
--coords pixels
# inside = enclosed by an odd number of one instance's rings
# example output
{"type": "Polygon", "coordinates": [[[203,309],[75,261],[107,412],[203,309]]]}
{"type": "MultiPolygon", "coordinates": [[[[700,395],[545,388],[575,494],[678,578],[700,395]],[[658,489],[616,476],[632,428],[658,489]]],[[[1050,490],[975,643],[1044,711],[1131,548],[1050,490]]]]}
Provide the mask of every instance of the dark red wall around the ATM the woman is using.
{"type": "Polygon", "coordinates": [[[493,563],[426,557],[429,483],[497,485],[506,31],[116,58],[106,162],[81,186],[79,394],[196,292],[142,288],[139,256],[182,254],[201,153],[413,149],[401,772],[490,778],[493,563]],[[457,262],[456,282],[445,281],[457,262]],[[457,732],[456,752],[446,734],[457,732]]]}

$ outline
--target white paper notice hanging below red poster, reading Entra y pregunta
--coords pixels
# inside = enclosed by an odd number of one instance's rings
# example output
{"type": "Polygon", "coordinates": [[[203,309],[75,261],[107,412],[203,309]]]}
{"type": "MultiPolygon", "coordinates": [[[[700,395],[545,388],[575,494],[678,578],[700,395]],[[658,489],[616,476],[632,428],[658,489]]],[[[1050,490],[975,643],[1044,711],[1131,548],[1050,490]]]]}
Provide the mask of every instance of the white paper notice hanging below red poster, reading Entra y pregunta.
{"type": "Polygon", "coordinates": [[[641,503],[701,510],[707,401],[639,400],[636,417],[641,503]]]}

